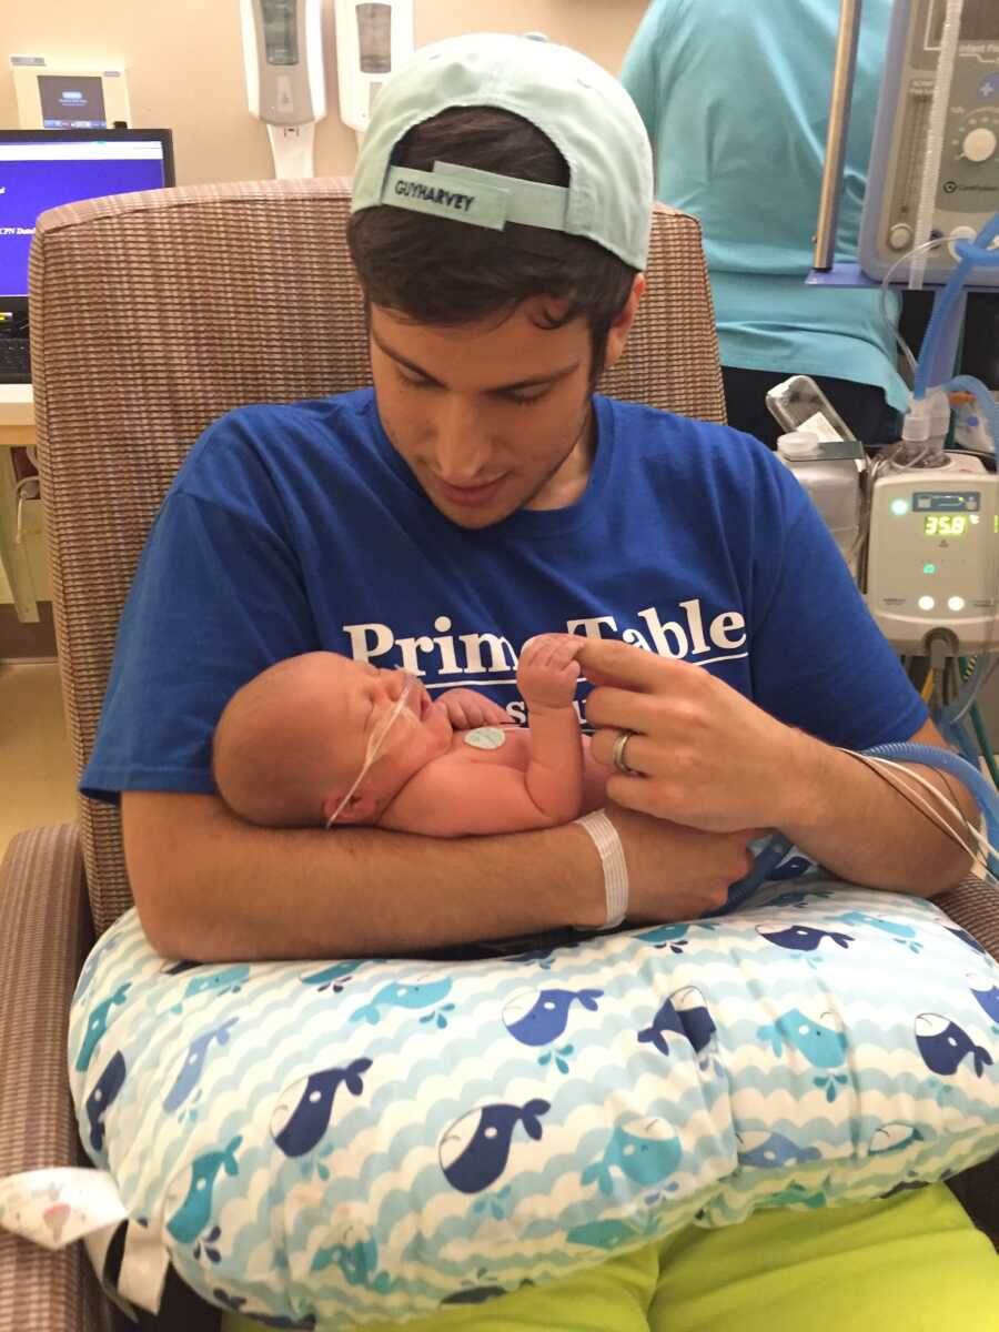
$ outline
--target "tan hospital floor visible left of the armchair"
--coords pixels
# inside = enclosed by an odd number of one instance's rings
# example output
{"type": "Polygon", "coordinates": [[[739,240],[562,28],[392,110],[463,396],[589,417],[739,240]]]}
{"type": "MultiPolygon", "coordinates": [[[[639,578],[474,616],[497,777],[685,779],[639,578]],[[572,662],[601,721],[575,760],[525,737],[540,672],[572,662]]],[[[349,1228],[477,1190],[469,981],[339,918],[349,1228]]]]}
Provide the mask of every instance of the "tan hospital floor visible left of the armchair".
{"type": "Polygon", "coordinates": [[[16,832],[76,819],[55,662],[0,663],[0,859],[16,832]]]}

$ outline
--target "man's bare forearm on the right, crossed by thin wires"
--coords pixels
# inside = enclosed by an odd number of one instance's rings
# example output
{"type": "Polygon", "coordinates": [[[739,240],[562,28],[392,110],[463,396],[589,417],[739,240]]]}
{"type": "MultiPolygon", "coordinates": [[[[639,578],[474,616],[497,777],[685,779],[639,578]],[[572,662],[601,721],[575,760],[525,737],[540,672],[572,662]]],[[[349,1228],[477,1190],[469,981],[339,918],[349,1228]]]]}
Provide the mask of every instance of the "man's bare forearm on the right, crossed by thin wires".
{"type": "MultiPolygon", "coordinates": [[[[797,846],[840,878],[872,888],[934,896],[960,880],[970,864],[966,852],[890,781],[860,759],[802,733],[795,743],[791,771],[797,791],[791,814],[779,826],[797,846]]],[[[975,801],[960,782],[946,782],[934,769],[907,766],[978,822],[975,801]]],[[[910,786],[956,826],[928,791],[915,782],[910,786]]]]}

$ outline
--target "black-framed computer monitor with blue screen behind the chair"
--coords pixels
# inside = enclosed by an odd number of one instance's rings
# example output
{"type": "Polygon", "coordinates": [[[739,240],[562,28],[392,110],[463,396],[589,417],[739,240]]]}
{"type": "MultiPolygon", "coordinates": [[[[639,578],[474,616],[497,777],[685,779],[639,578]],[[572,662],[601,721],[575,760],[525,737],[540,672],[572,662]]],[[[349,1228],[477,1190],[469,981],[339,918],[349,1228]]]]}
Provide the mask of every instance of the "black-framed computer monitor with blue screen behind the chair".
{"type": "Polygon", "coordinates": [[[169,129],[0,129],[0,310],[28,309],[39,213],[172,184],[169,129]]]}

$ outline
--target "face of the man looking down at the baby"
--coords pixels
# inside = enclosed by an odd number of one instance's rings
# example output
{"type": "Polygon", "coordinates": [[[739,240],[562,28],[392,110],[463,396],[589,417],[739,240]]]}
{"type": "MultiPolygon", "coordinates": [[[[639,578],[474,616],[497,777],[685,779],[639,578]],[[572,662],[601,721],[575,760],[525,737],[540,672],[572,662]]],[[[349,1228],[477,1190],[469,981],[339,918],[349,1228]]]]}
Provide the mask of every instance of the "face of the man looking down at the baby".
{"type": "Polygon", "coordinates": [[[462,527],[563,507],[586,486],[590,330],[583,318],[539,328],[546,310],[559,314],[559,302],[534,297],[502,322],[441,328],[372,306],[385,430],[432,503],[462,527]]]}

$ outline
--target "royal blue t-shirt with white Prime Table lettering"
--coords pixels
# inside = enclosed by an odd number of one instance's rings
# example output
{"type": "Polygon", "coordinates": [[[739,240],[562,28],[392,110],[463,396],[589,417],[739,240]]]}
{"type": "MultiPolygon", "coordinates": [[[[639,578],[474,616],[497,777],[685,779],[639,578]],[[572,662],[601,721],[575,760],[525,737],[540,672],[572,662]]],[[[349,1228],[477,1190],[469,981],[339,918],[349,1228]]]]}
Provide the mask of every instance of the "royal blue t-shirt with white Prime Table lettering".
{"type": "Polygon", "coordinates": [[[408,666],[437,697],[482,689],[521,722],[517,657],[546,630],[697,662],[838,745],[912,735],[926,709],[770,450],[726,426],[594,406],[579,500],[481,530],[434,509],[370,389],[214,422],[149,533],[84,794],[212,793],[228,699],[316,649],[408,666]]]}

